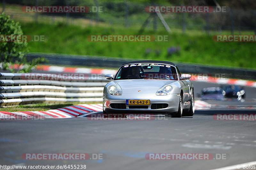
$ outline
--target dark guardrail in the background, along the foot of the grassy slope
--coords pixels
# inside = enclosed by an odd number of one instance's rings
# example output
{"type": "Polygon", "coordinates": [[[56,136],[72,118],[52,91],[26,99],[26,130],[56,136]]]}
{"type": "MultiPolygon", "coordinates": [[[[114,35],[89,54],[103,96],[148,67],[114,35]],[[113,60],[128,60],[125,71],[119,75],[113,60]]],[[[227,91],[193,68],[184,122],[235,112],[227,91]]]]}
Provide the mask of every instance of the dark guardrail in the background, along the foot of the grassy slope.
{"type": "MultiPolygon", "coordinates": [[[[70,54],[55,54],[55,53],[28,53],[28,60],[37,57],[45,57],[51,65],[65,66],[104,66],[119,68],[122,64],[128,61],[140,60],[130,58],[114,58],[102,56],[85,56],[85,55],[70,55],[70,54]]],[[[143,59],[142,59],[143,60],[143,59]]],[[[174,62],[182,73],[208,73],[208,74],[224,74],[226,78],[238,79],[256,79],[256,70],[245,69],[239,67],[220,67],[211,65],[201,65],[196,63],[174,62]]]]}

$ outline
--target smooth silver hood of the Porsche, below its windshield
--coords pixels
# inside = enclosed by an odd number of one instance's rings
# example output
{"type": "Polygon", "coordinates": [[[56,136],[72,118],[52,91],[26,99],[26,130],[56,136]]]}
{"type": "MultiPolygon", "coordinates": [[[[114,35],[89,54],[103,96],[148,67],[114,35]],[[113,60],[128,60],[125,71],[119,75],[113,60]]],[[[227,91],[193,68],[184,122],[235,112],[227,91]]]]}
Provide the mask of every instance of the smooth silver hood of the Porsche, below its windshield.
{"type": "Polygon", "coordinates": [[[156,93],[156,91],[166,85],[175,82],[176,80],[159,80],[159,79],[130,79],[130,80],[115,80],[121,88],[123,93],[156,93]]]}

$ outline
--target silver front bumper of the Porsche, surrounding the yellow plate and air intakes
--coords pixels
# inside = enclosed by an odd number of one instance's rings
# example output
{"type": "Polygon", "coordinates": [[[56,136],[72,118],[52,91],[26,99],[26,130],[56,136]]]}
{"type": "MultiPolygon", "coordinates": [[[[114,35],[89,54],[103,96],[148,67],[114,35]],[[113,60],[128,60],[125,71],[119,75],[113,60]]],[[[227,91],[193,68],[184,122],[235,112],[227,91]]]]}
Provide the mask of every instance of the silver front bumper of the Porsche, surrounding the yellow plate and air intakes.
{"type": "Polygon", "coordinates": [[[103,94],[103,110],[106,113],[172,113],[178,112],[179,109],[179,99],[180,94],[170,94],[166,96],[156,96],[155,94],[123,94],[121,96],[112,96],[109,94],[103,94]],[[129,109],[129,106],[126,104],[127,99],[134,100],[150,100],[150,104],[148,105],[148,109],[129,109]],[[114,109],[111,108],[111,103],[122,103],[125,104],[126,109],[114,109]],[[167,103],[168,107],[163,109],[151,109],[152,104],[160,104],[167,103]]]}

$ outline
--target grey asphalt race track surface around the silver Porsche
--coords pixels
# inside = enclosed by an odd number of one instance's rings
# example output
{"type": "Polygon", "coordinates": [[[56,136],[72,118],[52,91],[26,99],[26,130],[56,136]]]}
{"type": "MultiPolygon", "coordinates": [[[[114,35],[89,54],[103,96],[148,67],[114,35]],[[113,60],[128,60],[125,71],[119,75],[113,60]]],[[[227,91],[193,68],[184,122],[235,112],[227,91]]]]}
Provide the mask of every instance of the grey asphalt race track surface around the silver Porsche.
{"type": "MultiPolygon", "coordinates": [[[[193,82],[195,94],[217,84],[193,82]]],[[[245,102],[206,101],[209,110],[165,120],[87,118],[0,121],[0,165],[86,165],[86,169],[214,169],[256,160],[255,121],[214,120],[215,113],[256,113],[255,88],[245,102]],[[232,109],[225,106],[244,106],[232,109]],[[104,153],[104,160],[24,160],[23,153],[104,153]],[[147,160],[147,153],[222,153],[222,160],[147,160]]],[[[242,168],[241,168],[242,169],[242,168]]]]}

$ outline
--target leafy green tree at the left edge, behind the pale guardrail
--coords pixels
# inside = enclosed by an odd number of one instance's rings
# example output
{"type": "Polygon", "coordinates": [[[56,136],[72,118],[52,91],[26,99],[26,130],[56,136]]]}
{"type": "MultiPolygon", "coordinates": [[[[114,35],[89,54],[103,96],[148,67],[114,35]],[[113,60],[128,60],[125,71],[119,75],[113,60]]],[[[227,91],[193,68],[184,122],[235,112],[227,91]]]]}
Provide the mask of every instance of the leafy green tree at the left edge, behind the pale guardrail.
{"type": "Polygon", "coordinates": [[[45,58],[35,58],[27,61],[25,53],[28,52],[26,41],[10,39],[10,35],[23,35],[19,22],[14,22],[4,12],[0,14],[0,62],[4,70],[15,72],[14,64],[22,66],[18,72],[30,72],[33,67],[45,61],[45,58]]]}

